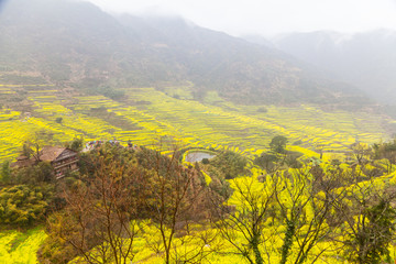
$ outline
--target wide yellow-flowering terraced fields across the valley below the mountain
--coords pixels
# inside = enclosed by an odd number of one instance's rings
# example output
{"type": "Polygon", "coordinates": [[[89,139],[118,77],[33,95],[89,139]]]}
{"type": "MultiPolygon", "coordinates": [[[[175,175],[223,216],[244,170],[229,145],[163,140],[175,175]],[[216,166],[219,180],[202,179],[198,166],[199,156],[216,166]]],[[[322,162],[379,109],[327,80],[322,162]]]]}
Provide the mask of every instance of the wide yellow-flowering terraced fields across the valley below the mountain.
{"type": "MultiPolygon", "coordinates": [[[[0,92],[12,89],[3,86],[0,92]]],[[[262,106],[223,101],[216,92],[198,102],[191,100],[188,89],[179,87],[123,89],[122,102],[103,96],[70,98],[54,87],[25,89],[32,112],[0,110],[0,160],[15,157],[22,143],[40,130],[51,132],[55,143],[81,134],[86,140],[116,138],[138,145],[172,138],[183,146],[230,148],[248,156],[260,154],[274,135],[283,134],[289,143],[300,141],[300,150],[342,153],[355,141],[387,139],[382,125],[392,122],[369,113],[324,112],[314,106],[267,106],[262,111],[262,106]],[[56,122],[57,118],[62,122],[56,122]]]]}

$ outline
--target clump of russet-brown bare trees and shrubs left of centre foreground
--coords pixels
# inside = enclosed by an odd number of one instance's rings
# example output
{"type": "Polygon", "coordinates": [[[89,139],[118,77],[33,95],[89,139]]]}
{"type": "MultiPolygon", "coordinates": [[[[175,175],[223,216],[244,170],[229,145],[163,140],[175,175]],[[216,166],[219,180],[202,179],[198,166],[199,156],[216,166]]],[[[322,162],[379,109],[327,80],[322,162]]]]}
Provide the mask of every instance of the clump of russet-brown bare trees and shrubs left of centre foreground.
{"type": "Polygon", "coordinates": [[[209,187],[199,168],[179,163],[179,152],[165,156],[105,144],[80,161],[80,176],[63,182],[64,206],[48,218],[42,260],[129,263],[138,237],[165,263],[200,262],[208,254],[205,245],[215,235],[194,237],[193,227],[208,224],[209,187]]]}

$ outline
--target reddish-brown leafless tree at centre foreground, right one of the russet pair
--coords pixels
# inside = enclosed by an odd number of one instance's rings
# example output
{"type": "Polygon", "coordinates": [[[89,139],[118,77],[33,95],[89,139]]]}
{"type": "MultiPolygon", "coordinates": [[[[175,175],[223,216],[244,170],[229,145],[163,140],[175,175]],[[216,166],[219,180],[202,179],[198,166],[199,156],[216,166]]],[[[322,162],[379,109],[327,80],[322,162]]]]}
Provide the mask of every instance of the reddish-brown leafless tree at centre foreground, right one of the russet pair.
{"type": "MultiPolygon", "coordinates": [[[[201,260],[208,252],[205,241],[211,241],[213,234],[207,233],[201,240],[195,240],[194,251],[186,251],[187,248],[180,246],[180,243],[187,243],[191,238],[191,227],[198,221],[205,222],[207,217],[209,202],[204,176],[197,169],[179,163],[180,153],[175,145],[167,156],[163,155],[162,145],[155,151],[143,150],[141,155],[147,162],[151,174],[150,189],[145,191],[148,197],[144,199],[146,208],[150,208],[150,224],[161,234],[160,240],[147,235],[151,238],[148,244],[158,253],[164,252],[165,263],[172,260],[183,263],[201,260]]],[[[194,233],[202,235],[205,232],[194,233]]]]}

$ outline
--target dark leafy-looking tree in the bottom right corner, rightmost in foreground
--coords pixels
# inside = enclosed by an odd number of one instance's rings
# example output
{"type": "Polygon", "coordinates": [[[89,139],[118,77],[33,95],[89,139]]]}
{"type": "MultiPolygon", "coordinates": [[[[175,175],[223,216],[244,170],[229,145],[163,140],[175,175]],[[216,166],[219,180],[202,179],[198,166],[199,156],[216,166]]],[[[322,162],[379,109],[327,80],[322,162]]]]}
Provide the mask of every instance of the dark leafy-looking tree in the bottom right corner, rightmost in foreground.
{"type": "Polygon", "coordinates": [[[348,186],[348,196],[337,204],[337,213],[344,223],[338,238],[343,245],[341,253],[353,263],[380,263],[388,256],[395,239],[396,189],[386,179],[361,182],[356,175],[348,186]]]}

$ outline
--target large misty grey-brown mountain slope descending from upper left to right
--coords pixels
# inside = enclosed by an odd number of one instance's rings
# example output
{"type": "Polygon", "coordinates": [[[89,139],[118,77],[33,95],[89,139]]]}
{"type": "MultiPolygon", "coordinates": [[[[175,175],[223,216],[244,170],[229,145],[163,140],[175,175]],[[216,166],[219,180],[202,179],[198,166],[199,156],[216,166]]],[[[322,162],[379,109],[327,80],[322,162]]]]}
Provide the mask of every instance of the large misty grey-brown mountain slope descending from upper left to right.
{"type": "Polygon", "coordinates": [[[197,94],[217,90],[243,103],[369,103],[360,90],[277,50],[179,18],[116,18],[87,2],[12,0],[0,32],[1,82],[25,76],[76,88],[191,81],[197,94]]]}

